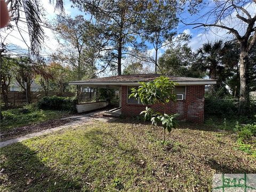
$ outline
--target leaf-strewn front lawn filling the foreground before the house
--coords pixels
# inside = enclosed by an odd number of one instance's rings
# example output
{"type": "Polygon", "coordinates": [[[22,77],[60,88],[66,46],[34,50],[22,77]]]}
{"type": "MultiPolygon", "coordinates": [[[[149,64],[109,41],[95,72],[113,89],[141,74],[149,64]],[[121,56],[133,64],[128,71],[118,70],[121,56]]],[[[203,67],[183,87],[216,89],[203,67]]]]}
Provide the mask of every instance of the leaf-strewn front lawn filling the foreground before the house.
{"type": "MultiPolygon", "coordinates": [[[[138,122],[94,122],[1,149],[1,191],[210,191],[214,173],[256,173],[236,136],[205,125],[167,134],[138,122]]],[[[208,126],[208,125],[206,125],[208,126]]]]}

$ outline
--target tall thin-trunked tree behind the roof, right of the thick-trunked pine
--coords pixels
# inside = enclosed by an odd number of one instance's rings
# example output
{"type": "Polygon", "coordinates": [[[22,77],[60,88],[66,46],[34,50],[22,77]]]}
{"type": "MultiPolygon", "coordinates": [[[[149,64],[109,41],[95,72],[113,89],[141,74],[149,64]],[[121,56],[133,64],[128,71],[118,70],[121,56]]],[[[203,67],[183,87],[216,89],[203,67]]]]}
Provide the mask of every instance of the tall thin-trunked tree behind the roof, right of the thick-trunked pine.
{"type": "Polygon", "coordinates": [[[179,19],[177,13],[180,4],[177,1],[144,1],[145,12],[142,12],[142,23],[139,26],[142,39],[153,45],[155,51],[155,73],[158,66],[158,51],[162,47],[172,43],[173,36],[176,34],[175,28],[179,19]]]}

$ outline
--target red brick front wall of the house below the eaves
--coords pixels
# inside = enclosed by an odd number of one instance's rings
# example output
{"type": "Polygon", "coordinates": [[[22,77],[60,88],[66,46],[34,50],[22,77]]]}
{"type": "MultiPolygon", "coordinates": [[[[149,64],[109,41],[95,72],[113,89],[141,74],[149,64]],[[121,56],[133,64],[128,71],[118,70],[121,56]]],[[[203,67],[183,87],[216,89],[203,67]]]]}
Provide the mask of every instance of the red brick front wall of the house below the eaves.
{"type": "MultiPolygon", "coordinates": [[[[122,114],[137,116],[146,106],[154,109],[155,112],[163,113],[163,105],[139,105],[127,103],[127,86],[122,86],[122,114]]],[[[182,120],[203,123],[204,121],[204,85],[186,86],[186,99],[169,102],[165,109],[167,114],[180,114],[182,120]]]]}

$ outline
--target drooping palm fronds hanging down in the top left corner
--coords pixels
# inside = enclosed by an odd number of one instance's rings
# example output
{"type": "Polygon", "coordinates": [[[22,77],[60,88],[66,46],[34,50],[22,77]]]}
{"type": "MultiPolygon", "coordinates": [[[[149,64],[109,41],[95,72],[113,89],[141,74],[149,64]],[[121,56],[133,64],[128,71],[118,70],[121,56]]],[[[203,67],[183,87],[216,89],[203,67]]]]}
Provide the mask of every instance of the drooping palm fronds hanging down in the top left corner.
{"type": "MultiPolygon", "coordinates": [[[[49,0],[49,3],[54,4],[55,10],[59,9],[63,12],[63,0],[49,0]]],[[[18,26],[18,23],[25,22],[27,24],[30,38],[30,46],[27,46],[33,53],[39,53],[41,44],[44,41],[41,19],[43,15],[42,3],[39,0],[6,0],[6,4],[9,7],[10,20],[14,21],[20,35],[22,29],[18,26]]],[[[12,26],[9,25],[7,27],[12,26]]],[[[25,42],[24,39],[23,41],[25,42]]]]}

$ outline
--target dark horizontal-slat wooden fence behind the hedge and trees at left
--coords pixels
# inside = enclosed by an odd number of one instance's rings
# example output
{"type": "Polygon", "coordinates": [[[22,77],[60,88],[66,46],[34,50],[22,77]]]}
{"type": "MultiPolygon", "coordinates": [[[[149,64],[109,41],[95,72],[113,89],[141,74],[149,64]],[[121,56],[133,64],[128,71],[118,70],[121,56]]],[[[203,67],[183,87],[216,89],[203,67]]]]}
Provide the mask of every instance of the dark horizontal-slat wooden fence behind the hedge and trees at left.
{"type": "MultiPolygon", "coordinates": [[[[57,95],[56,92],[49,92],[49,96],[57,95]]],[[[63,97],[73,97],[75,94],[66,92],[63,97]]],[[[36,103],[44,97],[44,92],[31,92],[31,102],[36,103]]],[[[4,107],[4,98],[0,94],[1,107],[4,107]]],[[[19,107],[27,104],[25,92],[10,91],[8,94],[8,107],[19,107]]]]}

